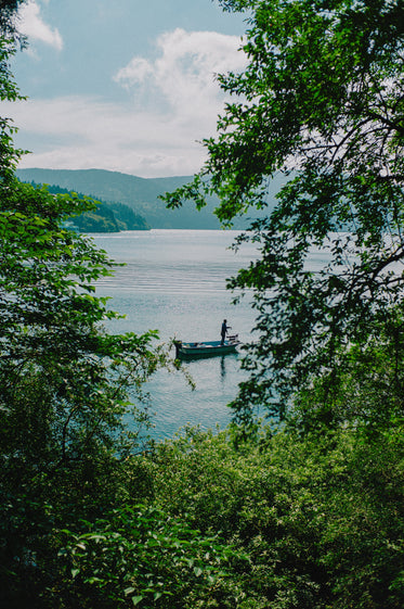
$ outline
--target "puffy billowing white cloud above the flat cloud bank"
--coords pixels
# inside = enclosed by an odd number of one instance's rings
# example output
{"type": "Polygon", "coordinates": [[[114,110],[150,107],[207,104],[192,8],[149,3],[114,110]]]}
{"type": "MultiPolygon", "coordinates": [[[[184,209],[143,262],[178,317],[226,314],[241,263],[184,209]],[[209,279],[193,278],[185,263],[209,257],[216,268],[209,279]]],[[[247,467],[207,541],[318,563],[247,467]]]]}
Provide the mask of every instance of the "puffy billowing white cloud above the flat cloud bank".
{"type": "Polygon", "coordinates": [[[115,79],[132,89],[138,101],[148,100],[155,109],[181,116],[183,123],[209,117],[211,126],[211,117],[223,107],[214,76],[245,66],[236,36],[178,28],[158,38],[154,61],[135,56],[115,79]]]}

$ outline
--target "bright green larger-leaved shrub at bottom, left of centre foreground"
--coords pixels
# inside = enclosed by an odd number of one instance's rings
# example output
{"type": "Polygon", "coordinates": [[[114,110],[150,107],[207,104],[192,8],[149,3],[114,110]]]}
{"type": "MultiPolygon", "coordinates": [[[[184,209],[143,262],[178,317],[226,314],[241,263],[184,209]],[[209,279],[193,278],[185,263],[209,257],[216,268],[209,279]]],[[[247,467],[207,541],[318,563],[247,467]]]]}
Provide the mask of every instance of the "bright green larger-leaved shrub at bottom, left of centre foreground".
{"type": "Polygon", "coordinates": [[[103,607],[192,607],[191,598],[209,598],[227,575],[230,547],[157,507],[126,507],[83,524],[80,535],[62,531],[69,605],[97,596],[103,607]]]}

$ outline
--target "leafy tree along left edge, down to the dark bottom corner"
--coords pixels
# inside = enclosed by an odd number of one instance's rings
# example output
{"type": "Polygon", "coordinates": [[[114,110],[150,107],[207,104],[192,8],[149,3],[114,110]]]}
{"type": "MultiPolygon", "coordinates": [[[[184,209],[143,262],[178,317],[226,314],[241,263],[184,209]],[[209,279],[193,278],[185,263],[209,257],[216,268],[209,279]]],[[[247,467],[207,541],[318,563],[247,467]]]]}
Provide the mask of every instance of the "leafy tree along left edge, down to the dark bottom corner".
{"type": "MultiPolygon", "coordinates": [[[[9,101],[17,5],[0,7],[9,101]]],[[[64,228],[94,203],[19,182],[13,126],[0,125],[0,605],[23,607],[52,578],[52,529],[115,506],[122,461],[144,448],[142,386],[168,357],[155,331],[106,332],[118,314],[93,283],[115,265],[64,228]]]]}

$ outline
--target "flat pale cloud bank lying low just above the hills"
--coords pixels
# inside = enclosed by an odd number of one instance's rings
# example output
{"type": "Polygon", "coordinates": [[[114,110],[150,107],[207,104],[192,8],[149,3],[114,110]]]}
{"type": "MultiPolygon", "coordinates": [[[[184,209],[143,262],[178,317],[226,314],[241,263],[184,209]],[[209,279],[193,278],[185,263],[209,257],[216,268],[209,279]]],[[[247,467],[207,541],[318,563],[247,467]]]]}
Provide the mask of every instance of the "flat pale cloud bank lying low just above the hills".
{"type": "Polygon", "coordinates": [[[203,148],[175,120],[145,111],[80,97],[14,102],[6,111],[19,128],[16,145],[34,150],[19,167],[161,177],[190,175],[203,163],[203,148]]]}

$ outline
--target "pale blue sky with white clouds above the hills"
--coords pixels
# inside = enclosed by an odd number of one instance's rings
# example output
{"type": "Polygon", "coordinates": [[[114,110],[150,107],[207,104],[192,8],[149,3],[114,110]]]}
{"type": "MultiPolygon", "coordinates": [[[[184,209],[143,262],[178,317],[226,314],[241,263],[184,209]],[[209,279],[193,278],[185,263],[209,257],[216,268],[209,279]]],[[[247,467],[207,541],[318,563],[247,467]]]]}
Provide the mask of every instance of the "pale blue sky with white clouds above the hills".
{"type": "Polygon", "coordinates": [[[30,151],[18,166],[198,172],[225,101],[214,74],[246,64],[245,20],[217,0],[28,0],[12,62],[28,99],[5,104],[30,151]]]}

